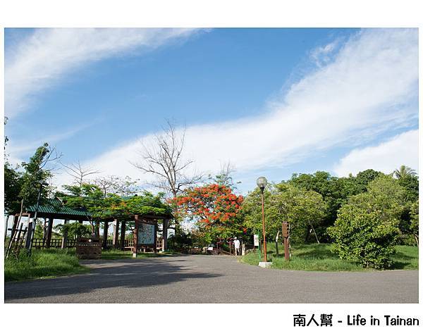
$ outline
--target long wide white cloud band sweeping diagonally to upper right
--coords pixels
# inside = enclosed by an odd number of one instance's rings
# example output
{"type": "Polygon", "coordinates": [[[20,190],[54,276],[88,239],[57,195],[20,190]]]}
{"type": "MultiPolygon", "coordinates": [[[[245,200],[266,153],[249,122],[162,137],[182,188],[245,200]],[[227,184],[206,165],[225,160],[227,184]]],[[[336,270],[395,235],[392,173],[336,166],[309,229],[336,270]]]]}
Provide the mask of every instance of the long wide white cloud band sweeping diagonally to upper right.
{"type": "MultiPolygon", "coordinates": [[[[264,114],[188,127],[187,157],[203,171],[231,160],[245,173],[297,162],[319,149],[357,146],[415,123],[417,108],[410,101],[417,95],[417,37],[417,30],[363,30],[264,114]]],[[[86,163],[104,174],[140,177],[128,161],[139,158],[140,141],[151,139],[136,137],[86,163]]]]}

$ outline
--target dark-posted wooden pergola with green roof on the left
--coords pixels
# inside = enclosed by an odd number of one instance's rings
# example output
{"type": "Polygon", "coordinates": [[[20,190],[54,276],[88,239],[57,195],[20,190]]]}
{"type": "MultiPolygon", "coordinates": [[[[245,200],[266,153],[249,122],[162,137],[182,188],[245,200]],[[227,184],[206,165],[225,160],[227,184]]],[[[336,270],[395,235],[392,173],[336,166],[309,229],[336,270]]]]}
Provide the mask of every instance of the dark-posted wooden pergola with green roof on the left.
{"type": "MultiPolygon", "coordinates": [[[[31,218],[35,217],[35,209],[36,206],[30,206],[27,208],[26,213],[23,216],[29,218],[28,223],[30,223],[31,218]]],[[[63,224],[69,223],[71,220],[77,220],[79,223],[89,222],[91,218],[91,214],[87,212],[84,208],[70,208],[63,204],[61,199],[49,199],[46,203],[40,204],[37,211],[37,218],[44,218],[47,222],[47,229],[44,233],[44,238],[42,239],[42,246],[50,247],[51,246],[51,234],[53,231],[53,222],[54,220],[63,220],[63,224]]],[[[157,232],[158,232],[158,225],[157,220],[163,221],[163,230],[162,230],[162,244],[161,250],[164,251],[167,249],[167,229],[168,229],[168,222],[171,220],[173,216],[171,213],[163,213],[163,214],[154,214],[154,213],[140,213],[140,214],[131,214],[131,215],[114,215],[114,216],[106,216],[103,218],[95,219],[94,221],[104,223],[104,232],[102,236],[102,246],[104,249],[108,247],[108,232],[109,232],[109,224],[113,223],[114,225],[114,234],[111,246],[115,248],[125,249],[125,232],[127,222],[134,220],[135,221],[135,233],[134,233],[134,244],[131,245],[132,250],[137,251],[137,249],[145,249],[146,247],[151,247],[154,251],[156,251],[156,240],[157,240],[157,232]],[[138,234],[138,230],[140,224],[150,224],[154,225],[154,245],[153,244],[138,244],[138,238],[140,235],[138,234]],[[120,236],[119,236],[119,228],[120,228],[120,236]],[[119,238],[120,237],[120,238],[119,238]]],[[[13,233],[16,233],[18,228],[20,216],[19,214],[15,215],[13,219],[13,227],[11,236],[13,237],[13,233]]],[[[32,243],[34,244],[34,242],[32,243]]],[[[68,234],[63,232],[63,238],[61,239],[61,248],[68,247],[68,234]]]]}

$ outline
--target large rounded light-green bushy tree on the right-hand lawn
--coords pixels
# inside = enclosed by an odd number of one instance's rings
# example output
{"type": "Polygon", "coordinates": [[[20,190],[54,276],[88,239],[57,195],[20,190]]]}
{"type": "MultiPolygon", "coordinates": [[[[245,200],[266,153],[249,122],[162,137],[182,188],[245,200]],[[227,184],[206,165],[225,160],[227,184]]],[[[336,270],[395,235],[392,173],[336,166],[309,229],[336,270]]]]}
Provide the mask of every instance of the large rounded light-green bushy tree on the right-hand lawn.
{"type": "Polygon", "coordinates": [[[389,176],[369,182],[367,192],[351,196],[338,211],[329,234],[340,258],[367,268],[388,268],[400,235],[405,190],[389,176]]]}

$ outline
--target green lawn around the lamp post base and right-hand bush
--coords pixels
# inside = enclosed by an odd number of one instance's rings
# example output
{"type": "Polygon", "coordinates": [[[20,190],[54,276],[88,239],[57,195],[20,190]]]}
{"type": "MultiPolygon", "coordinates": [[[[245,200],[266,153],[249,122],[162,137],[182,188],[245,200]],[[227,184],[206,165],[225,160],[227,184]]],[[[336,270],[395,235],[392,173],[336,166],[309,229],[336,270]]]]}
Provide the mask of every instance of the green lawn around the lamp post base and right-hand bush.
{"type": "MultiPolygon", "coordinates": [[[[302,244],[292,247],[290,261],[285,261],[283,245],[279,245],[279,256],[275,254],[274,243],[267,245],[267,260],[273,262],[272,268],[305,271],[368,271],[358,263],[338,258],[331,252],[331,244],[302,244]]],[[[258,251],[251,252],[240,259],[243,263],[257,266],[258,251]]],[[[392,269],[412,270],[419,268],[419,249],[417,246],[396,246],[392,269]]]]}

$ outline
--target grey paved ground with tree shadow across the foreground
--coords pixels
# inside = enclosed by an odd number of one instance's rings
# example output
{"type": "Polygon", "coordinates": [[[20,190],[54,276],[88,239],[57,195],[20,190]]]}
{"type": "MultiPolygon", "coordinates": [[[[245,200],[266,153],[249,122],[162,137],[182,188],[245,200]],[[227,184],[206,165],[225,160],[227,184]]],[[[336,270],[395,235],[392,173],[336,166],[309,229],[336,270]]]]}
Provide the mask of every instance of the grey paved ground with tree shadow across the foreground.
{"type": "Polygon", "coordinates": [[[262,269],[224,256],[87,261],[92,273],[7,282],[6,302],[417,303],[418,271],[262,269]]]}

